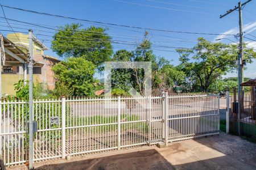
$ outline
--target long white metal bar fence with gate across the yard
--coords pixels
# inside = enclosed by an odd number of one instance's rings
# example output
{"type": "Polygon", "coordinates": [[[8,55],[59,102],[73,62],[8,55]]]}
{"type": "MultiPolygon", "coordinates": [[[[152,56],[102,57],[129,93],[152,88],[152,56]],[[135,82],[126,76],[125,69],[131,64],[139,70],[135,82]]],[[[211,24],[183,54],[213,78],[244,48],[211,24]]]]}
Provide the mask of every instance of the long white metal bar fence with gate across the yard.
{"type": "MultiPolygon", "coordinates": [[[[28,160],[28,103],[0,103],[0,155],[28,160]]],[[[35,100],[34,161],[219,133],[217,95],[35,100]]]]}

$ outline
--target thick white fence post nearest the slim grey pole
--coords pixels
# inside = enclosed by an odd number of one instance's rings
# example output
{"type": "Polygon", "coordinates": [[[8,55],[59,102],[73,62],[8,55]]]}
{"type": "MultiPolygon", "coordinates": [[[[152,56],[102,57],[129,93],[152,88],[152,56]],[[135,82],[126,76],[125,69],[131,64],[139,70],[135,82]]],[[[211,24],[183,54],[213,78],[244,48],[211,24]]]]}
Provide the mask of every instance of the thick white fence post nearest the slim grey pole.
{"type": "Polygon", "coordinates": [[[62,142],[62,158],[65,158],[65,123],[66,123],[66,115],[65,115],[65,108],[66,108],[66,103],[65,103],[66,98],[63,96],[61,97],[61,127],[62,127],[62,137],[61,137],[61,142],[62,142]]]}

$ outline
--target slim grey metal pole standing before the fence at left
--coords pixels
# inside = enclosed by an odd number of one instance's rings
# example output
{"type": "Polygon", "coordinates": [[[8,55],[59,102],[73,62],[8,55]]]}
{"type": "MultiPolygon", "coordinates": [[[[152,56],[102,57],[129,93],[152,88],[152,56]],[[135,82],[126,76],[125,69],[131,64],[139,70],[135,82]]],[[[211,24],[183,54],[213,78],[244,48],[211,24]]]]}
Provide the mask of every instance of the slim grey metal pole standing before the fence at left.
{"type": "Polygon", "coordinates": [[[28,101],[29,101],[29,110],[28,110],[28,115],[29,115],[29,120],[28,120],[28,134],[29,134],[29,155],[28,155],[28,163],[29,163],[29,169],[33,169],[33,139],[34,139],[34,134],[33,134],[33,35],[32,35],[32,30],[28,30],[28,39],[29,39],[29,63],[28,63],[28,72],[29,72],[29,90],[28,90],[28,101]]]}

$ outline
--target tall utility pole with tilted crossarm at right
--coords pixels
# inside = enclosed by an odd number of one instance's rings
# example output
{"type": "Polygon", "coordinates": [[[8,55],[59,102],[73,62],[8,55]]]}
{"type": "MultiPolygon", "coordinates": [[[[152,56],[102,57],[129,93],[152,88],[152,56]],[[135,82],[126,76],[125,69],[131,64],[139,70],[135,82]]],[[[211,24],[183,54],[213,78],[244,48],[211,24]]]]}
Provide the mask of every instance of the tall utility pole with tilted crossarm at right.
{"type": "Polygon", "coordinates": [[[235,6],[232,10],[229,10],[224,15],[220,15],[220,18],[230,14],[233,11],[238,9],[239,11],[239,36],[240,36],[240,44],[239,44],[239,54],[237,57],[237,69],[238,69],[238,88],[237,88],[237,96],[238,96],[238,135],[241,135],[241,128],[240,128],[240,118],[241,118],[241,87],[240,84],[243,82],[243,29],[242,29],[242,6],[245,6],[246,3],[252,0],[248,0],[245,3],[238,2],[238,7],[235,6]]]}

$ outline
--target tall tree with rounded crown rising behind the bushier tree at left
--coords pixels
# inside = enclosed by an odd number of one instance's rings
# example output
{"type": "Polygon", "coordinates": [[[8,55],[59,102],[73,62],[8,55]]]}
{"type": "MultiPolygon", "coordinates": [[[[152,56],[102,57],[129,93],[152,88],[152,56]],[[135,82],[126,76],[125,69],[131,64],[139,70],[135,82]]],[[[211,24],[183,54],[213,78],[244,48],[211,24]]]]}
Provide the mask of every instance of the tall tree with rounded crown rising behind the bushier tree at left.
{"type": "Polygon", "coordinates": [[[82,57],[102,70],[113,54],[111,37],[101,27],[81,28],[81,24],[60,27],[52,40],[52,50],[60,57],[82,57]]]}

